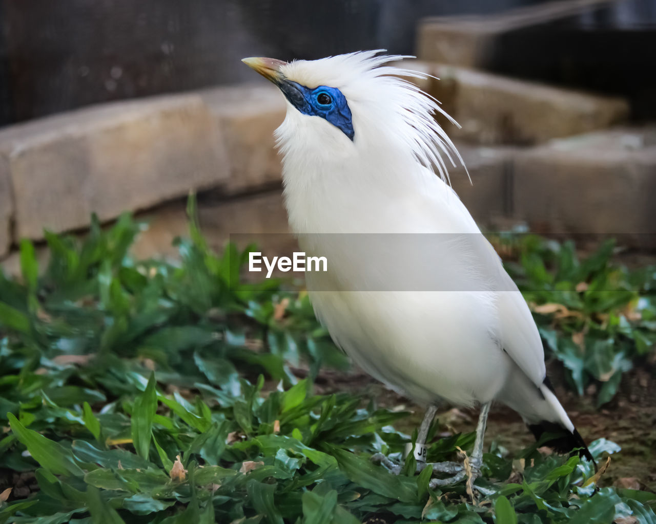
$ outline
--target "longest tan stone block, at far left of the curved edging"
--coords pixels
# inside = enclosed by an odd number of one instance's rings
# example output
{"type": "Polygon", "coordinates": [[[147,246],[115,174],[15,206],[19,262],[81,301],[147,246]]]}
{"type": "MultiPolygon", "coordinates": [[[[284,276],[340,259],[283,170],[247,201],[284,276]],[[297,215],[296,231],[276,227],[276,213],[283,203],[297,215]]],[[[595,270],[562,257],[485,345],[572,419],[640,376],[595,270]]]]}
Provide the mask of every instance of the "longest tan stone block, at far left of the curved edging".
{"type": "Polygon", "coordinates": [[[0,131],[16,240],[216,185],[228,176],[219,133],[195,94],[108,103],[0,131]]]}

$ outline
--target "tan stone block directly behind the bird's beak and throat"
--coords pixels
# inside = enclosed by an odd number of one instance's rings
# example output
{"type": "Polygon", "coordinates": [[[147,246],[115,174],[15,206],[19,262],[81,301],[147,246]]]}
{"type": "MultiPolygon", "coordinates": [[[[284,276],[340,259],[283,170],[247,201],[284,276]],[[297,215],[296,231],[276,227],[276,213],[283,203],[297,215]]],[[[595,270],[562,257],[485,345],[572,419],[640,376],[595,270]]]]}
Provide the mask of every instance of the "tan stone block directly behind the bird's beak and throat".
{"type": "Polygon", "coordinates": [[[203,90],[203,101],[222,130],[228,151],[227,194],[281,180],[274,130],[285,119],[285,98],[272,84],[242,84],[203,90]]]}

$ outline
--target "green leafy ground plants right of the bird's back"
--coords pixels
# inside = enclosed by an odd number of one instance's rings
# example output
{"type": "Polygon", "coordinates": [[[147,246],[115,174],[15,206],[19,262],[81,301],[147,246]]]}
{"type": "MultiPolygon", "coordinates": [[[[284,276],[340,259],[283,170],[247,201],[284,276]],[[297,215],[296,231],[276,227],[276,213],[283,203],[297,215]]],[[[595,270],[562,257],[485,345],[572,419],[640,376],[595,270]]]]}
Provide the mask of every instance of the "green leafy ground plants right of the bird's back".
{"type": "Polygon", "coordinates": [[[623,373],[655,347],[656,267],[629,271],[614,263],[613,240],[583,258],[571,240],[522,234],[497,242],[571,386],[583,395],[595,384],[597,404],[611,400],[623,373]]]}

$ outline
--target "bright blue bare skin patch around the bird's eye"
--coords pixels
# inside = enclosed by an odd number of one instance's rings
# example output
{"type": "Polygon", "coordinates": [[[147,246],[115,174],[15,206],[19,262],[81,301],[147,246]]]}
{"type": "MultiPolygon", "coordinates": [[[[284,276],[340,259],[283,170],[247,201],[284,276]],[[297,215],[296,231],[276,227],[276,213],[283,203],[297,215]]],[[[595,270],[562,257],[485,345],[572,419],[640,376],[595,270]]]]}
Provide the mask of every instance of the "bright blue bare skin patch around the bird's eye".
{"type": "Polygon", "coordinates": [[[355,132],[351,110],[340,90],[327,86],[310,89],[289,80],[279,83],[279,88],[298,111],[304,115],[325,119],[353,140],[355,132]]]}

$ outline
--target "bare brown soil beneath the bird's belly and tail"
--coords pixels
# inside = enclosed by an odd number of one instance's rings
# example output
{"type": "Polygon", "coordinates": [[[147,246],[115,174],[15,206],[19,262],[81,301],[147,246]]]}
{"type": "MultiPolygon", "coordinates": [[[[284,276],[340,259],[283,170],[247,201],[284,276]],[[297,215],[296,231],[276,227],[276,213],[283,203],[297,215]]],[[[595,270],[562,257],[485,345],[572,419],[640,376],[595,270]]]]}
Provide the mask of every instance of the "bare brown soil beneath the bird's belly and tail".
{"type": "MultiPolygon", "coordinates": [[[[557,362],[548,365],[548,374],[556,394],[586,442],[607,438],[622,449],[613,454],[611,464],[602,477],[603,485],[616,485],[630,489],[656,492],[656,365],[645,362],[625,373],[615,398],[598,408],[596,388],[588,388],[579,397],[565,387],[564,372],[557,362]]],[[[399,396],[362,371],[338,373],[322,371],[316,381],[318,393],[365,390],[381,407],[411,411],[396,427],[411,433],[419,426],[423,409],[411,400],[399,396]]],[[[446,436],[476,429],[477,409],[456,409],[445,405],[437,415],[443,427],[438,434],[446,436]]],[[[487,439],[493,439],[513,454],[534,442],[531,432],[519,415],[497,404],[491,408],[486,430],[487,439]]],[[[487,441],[485,449],[489,449],[487,441]]]]}

